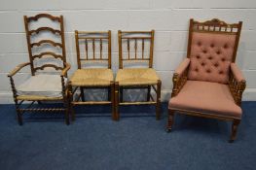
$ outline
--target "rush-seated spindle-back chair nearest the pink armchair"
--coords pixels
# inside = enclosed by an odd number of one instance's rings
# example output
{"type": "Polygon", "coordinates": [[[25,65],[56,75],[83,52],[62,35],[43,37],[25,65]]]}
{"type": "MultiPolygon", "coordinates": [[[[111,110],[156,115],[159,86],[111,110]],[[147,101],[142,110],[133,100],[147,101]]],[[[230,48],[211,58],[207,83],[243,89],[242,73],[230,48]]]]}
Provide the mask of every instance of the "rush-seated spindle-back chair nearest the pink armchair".
{"type": "Polygon", "coordinates": [[[152,68],[154,34],[154,30],[118,31],[119,70],[115,81],[115,115],[117,120],[120,119],[120,106],[145,104],[155,105],[156,119],[161,118],[162,82],[156,71],[152,68]],[[124,66],[128,66],[128,64],[132,64],[133,62],[146,63],[146,67],[124,68],[124,66]],[[129,88],[145,88],[147,90],[146,101],[124,101],[123,90],[129,88]],[[156,97],[151,95],[151,88],[155,90],[156,97]]]}

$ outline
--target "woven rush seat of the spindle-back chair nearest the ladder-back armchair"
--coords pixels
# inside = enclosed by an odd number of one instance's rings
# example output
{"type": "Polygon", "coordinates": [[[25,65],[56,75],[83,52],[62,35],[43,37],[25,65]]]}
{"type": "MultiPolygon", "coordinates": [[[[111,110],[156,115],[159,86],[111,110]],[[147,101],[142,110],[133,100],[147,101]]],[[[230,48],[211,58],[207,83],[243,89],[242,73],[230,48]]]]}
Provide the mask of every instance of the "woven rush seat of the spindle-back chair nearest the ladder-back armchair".
{"type": "Polygon", "coordinates": [[[78,69],[70,78],[75,86],[105,86],[111,81],[114,81],[113,72],[105,68],[78,69]]]}

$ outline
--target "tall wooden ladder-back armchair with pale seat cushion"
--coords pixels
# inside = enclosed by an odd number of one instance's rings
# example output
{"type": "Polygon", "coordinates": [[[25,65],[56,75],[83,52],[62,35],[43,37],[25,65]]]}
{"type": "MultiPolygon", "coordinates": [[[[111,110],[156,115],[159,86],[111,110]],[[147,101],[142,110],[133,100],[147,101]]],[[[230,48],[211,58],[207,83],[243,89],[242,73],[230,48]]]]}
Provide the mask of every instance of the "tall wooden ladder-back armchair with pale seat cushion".
{"type": "Polygon", "coordinates": [[[39,14],[35,17],[24,16],[24,25],[29,62],[19,64],[8,75],[11,80],[18,123],[22,125],[24,112],[64,112],[65,122],[69,124],[65,83],[70,65],[66,62],[63,17],[53,17],[48,14],[39,14]],[[42,26],[44,19],[48,20],[50,24],[55,24],[57,29],[42,26]],[[40,26],[31,28],[36,23],[40,26]],[[51,38],[55,37],[58,42],[56,43],[50,38],[46,39],[47,34],[50,34],[51,38]],[[20,85],[16,85],[14,76],[25,66],[30,66],[31,76],[27,80],[23,80],[20,85]],[[30,101],[31,104],[28,107],[22,107],[24,101],[30,101]],[[62,105],[59,107],[42,106],[45,101],[55,101],[62,105]],[[35,102],[41,105],[32,107],[35,102]]]}

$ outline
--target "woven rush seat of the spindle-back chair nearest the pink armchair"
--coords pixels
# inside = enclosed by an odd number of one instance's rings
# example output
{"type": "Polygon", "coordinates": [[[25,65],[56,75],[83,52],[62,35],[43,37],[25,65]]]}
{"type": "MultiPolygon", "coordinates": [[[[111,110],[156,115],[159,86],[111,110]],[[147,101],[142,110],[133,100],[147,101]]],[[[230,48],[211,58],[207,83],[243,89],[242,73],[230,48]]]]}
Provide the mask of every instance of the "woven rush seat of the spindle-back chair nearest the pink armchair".
{"type": "Polygon", "coordinates": [[[152,68],[127,68],[120,69],[116,82],[119,85],[157,85],[160,80],[156,71],[152,68]]]}

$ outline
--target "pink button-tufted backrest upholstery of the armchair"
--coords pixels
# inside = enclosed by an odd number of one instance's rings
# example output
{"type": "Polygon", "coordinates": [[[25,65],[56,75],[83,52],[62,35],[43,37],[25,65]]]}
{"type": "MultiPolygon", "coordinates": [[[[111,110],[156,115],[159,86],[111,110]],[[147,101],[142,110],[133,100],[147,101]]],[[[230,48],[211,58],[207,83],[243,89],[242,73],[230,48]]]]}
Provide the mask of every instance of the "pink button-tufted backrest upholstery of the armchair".
{"type": "Polygon", "coordinates": [[[189,80],[227,84],[236,35],[192,34],[189,80]]]}

